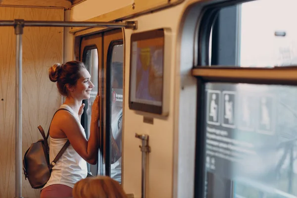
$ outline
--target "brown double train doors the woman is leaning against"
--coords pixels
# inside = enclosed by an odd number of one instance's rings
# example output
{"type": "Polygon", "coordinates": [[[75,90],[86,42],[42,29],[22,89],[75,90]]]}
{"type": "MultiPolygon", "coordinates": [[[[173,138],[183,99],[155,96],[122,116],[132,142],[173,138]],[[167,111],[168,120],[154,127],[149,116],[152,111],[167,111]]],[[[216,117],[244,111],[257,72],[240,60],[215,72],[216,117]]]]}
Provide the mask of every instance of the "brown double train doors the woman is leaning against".
{"type": "Polygon", "coordinates": [[[91,107],[101,95],[100,148],[96,165],[88,164],[92,175],[107,175],[121,183],[122,115],[123,115],[123,34],[112,30],[83,37],[81,60],[89,70],[95,85],[82,115],[82,125],[89,136],[91,107]]]}

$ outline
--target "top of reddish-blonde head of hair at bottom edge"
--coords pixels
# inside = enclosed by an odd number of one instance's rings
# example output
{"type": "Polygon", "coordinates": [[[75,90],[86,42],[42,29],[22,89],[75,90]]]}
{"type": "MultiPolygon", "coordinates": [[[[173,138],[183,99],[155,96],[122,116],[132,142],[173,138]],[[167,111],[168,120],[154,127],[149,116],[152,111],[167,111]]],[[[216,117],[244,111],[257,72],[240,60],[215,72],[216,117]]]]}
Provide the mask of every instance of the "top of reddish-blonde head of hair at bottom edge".
{"type": "Polygon", "coordinates": [[[73,198],[127,198],[120,184],[106,176],[87,177],[74,185],[73,198]]]}

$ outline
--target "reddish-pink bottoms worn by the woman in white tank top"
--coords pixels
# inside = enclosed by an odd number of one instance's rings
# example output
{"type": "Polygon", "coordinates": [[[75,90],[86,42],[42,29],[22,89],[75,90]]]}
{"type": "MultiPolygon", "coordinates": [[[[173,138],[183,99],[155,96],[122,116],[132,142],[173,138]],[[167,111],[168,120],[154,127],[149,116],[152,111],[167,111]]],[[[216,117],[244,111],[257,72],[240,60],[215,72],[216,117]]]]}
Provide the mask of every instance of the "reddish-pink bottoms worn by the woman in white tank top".
{"type": "Polygon", "coordinates": [[[63,184],[53,184],[41,191],[40,198],[72,198],[72,188],[63,184]]]}

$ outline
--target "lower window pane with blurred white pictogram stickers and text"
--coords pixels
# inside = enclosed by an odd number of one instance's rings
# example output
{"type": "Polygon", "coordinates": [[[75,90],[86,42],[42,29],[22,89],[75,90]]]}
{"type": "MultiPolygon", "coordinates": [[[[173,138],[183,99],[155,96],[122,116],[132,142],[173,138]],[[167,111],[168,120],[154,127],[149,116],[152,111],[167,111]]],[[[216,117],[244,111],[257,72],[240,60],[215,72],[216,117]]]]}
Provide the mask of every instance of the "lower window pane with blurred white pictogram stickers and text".
{"type": "Polygon", "coordinates": [[[205,85],[206,198],[296,198],[297,88],[205,85]]]}

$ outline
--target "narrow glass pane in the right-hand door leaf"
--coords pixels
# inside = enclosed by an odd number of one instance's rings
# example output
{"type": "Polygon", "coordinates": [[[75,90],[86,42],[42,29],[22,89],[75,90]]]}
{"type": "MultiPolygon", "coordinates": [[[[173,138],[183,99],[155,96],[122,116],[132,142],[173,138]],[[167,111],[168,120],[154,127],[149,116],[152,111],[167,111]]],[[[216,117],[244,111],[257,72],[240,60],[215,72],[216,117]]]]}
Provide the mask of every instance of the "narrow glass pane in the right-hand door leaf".
{"type": "Polygon", "coordinates": [[[111,67],[110,177],[119,183],[122,175],[123,49],[123,45],[112,48],[111,65],[109,65],[111,67]]]}

